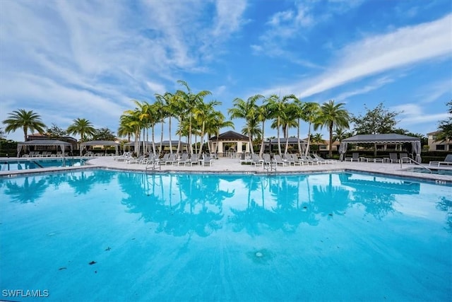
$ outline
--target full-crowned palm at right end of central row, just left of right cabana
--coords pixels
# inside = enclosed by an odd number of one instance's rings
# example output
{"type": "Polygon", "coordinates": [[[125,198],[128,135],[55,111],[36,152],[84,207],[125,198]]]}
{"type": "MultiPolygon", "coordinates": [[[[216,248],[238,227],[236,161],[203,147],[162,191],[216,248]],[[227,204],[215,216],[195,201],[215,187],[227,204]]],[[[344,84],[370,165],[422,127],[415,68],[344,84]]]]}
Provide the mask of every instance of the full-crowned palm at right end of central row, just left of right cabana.
{"type": "Polygon", "coordinates": [[[333,156],[333,128],[348,128],[348,122],[350,121],[350,115],[347,110],[343,108],[344,103],[335,104],[334,100],[328,100],[328,103],[323,103],[320,108],[320,115],[318,124],[314,126],[314,129],[318,127],[328,127],[330,132],[330,142],[328,156],[333,156]]]}

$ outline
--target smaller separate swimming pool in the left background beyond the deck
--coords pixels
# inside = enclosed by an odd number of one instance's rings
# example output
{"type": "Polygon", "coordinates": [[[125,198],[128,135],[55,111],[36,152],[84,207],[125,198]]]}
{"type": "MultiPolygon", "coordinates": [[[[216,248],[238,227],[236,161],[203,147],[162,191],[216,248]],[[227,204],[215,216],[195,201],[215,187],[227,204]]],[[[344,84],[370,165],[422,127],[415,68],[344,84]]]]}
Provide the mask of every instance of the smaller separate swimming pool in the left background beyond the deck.
{"type": "Polygon", "coordinates": [[[81,158],[29,158],[25,160],[1,160],[0,171],[29,170],[49,167],[71,167],[84,165],[85,161],[81,158]]]}

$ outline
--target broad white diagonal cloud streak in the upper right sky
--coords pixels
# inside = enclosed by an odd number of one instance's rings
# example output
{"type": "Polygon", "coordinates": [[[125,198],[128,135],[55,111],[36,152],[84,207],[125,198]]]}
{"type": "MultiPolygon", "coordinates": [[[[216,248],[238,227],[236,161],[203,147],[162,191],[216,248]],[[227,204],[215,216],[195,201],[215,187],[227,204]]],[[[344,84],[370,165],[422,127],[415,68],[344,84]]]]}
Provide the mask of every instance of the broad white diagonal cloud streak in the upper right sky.
{"type": "MultiPolygon", "coordinates": [[[[337,59],[323,74],[281,89],[285,93],[301,91],[299,95],[307,97],[400,66],[451,56],[451,25],[452,15],[448,15],[430,23],[353,42],[335,55],[337,59]]],[[[275,93],[279,89],[265,92],[275,93]]]]}

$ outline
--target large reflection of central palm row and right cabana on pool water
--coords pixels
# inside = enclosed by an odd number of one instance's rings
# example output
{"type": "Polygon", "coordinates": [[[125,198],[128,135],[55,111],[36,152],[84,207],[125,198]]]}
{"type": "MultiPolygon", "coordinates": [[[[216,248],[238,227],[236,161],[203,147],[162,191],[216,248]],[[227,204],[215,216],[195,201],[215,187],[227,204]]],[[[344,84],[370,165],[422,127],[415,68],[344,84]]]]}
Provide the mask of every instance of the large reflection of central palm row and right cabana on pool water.
{"type": "Polygon", "coordinates": [[[157,232],[208,236],[230,223],[256,236],[261,228],[295,232],[306,223],[343,216],[357,204],[376,219],[395,211],[399,194],[420,194],[420,183],[350,173],[319,175],[146,175],[120,173],[130,213],[157,223],[157,232]],[[391,190],[388,190],[390,188],[391,190]]]}

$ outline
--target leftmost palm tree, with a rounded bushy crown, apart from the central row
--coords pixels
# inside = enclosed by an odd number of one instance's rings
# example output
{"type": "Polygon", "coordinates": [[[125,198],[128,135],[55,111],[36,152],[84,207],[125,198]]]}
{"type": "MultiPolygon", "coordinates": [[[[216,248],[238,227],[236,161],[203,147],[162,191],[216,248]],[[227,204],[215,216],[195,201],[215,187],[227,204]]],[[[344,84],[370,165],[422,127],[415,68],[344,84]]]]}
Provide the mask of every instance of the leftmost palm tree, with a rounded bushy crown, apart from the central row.
{"type": "Polygon", "coordinates": [[[41,121],[40,115],[32,110],[25,109],[14,110],[9,117],[3,121],[6,124],[5,132],[13,132],[19,128],[23,129],[23,141],[27,140],[28,130],[36,130],[40,134],[45,132],[46,125],[41,121]]]}

